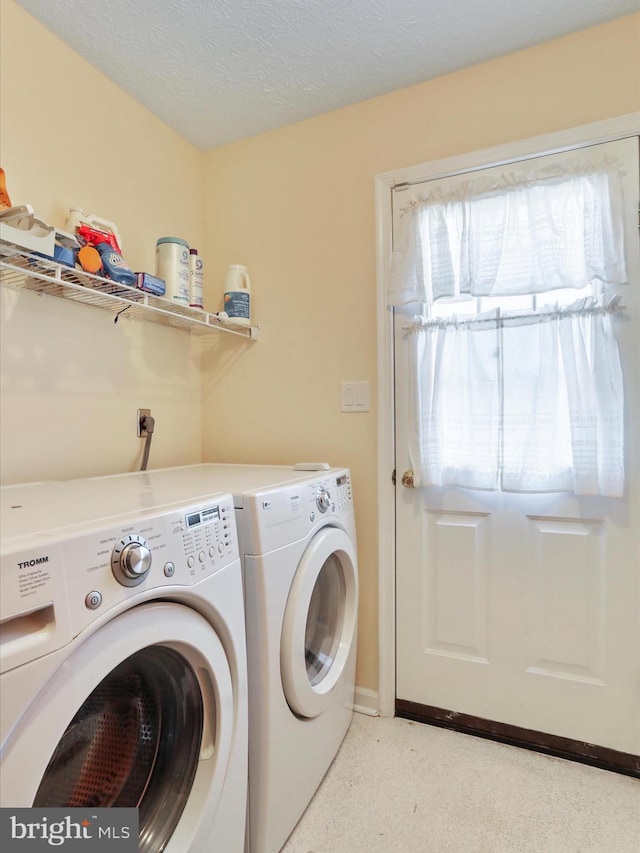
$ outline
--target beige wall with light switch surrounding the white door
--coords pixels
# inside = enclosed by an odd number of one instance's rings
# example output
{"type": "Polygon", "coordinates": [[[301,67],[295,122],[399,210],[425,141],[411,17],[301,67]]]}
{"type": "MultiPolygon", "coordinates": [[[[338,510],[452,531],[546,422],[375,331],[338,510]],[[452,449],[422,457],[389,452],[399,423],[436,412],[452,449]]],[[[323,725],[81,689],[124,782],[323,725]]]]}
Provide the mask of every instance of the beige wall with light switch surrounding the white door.
{"type": "MultiPolygon", "coordinates": [[[[210,303],[248,266],[261,340],[206,359],[208,461],[349,465],[362,585],[358,684],[377,685],[374,177],[640,108],[640,17],[211,151],[210,303]],[[219,360],[216,360],[219,358],[219,360]],[[340,413],[368,379],[370,414],[340,413]]],[[[391,472],[389,472],[391,473],[391,472]]]]}

